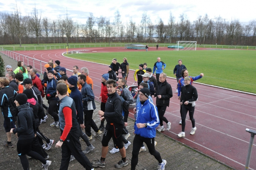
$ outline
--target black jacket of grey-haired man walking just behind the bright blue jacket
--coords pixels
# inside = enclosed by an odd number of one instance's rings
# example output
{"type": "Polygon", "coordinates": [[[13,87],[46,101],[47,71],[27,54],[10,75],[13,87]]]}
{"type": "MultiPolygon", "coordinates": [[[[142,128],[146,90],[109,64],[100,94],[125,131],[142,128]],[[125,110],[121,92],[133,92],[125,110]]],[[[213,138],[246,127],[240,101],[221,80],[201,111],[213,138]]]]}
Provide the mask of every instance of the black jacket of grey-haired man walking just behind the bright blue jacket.
{"type": "Polygon", "coordinates": [[[166,80],[163,83],[159,81],[154,96],[156,96],[156,105],[169,107],[170,98],[173,97],[171,85],[166,80]],[[158,95],[161,95],[161,98],[158,98],[158,95]]]}

